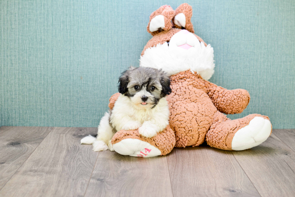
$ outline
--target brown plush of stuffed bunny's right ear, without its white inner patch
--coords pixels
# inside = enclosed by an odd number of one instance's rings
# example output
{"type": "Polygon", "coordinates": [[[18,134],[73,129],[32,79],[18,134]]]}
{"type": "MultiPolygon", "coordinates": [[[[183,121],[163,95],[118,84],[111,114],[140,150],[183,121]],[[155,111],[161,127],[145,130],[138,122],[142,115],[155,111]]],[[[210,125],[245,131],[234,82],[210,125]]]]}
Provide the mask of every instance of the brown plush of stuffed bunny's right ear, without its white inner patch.
{"type": "MultiPolygon", "coordinates": [[[[185,29],[190,31],[191,33],[194,33],[195,32],[194,27],[193,27],[193,24],[191,24],[191,16],[193,15],[193,8],[187,3],[183,3],[179,5],[178,8],[176,8],[175,16],[180,13],[183,13],[185,15],[185,29]]],[[[174,17],[172,21],[174,21],[174,17]]],[[[176,24],[174,24],[174,26],[178,29],[181,29],[181,27],[179,27],[176,24]]]]}

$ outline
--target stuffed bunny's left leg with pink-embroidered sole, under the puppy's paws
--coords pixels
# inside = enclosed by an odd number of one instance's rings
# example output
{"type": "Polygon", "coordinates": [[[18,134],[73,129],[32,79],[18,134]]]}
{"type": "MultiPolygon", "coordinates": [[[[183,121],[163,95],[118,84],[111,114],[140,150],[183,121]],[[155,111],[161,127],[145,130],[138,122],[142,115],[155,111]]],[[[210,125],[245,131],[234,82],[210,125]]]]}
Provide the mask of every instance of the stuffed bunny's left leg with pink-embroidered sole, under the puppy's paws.
{"type": "Polygon", "coordinates": [[[144,138],[138,130],[121,130],[112,138],[113,149],[123,155],[133,157],[154,157],[166,155],[175,145],[174,131],[167,126],[166,129],[152,138],[144,138]]]}

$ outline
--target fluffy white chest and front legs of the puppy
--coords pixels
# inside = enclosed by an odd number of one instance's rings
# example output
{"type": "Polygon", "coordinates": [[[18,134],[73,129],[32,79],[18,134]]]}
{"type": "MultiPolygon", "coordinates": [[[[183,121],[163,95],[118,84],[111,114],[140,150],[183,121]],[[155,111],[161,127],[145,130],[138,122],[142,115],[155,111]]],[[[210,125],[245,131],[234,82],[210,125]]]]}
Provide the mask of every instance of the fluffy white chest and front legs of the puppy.
{"type": "Polygon", "coordinates": [[[153,108],[146,108],[132,103],[127,96],[120,95],[111,111],[110,123],[120,131],[124,126],[128,130],[146,126],[155,126],[156,132],[161,132],[169,124],[169,107],[165,97],[161,98],[153,108]],[[129,128],[128,128],[129,127],[129,128]]]}

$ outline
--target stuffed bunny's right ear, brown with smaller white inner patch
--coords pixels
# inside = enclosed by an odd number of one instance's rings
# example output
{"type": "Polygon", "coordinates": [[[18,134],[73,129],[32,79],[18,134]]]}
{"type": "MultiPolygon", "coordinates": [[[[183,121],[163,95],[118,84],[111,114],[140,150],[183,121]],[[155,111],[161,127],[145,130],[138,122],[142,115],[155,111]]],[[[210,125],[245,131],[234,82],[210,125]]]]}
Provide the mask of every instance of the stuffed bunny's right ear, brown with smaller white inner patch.
{"type": "Polygon", "coordinates": [[[186,29],[194,33],[193,24],[191,24],[191,16],[193,15],[193,8],[187,3],[179,5],[175,10],[175,17],[172,19],[174,26],[178,29],[186,29]]]}

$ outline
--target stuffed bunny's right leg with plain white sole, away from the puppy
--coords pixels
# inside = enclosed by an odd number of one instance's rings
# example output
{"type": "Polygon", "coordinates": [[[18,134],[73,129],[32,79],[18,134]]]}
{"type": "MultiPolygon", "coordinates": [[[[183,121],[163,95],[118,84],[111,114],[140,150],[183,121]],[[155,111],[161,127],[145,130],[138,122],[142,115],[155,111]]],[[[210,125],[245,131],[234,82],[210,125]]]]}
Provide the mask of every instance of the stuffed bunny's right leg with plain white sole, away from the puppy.
{"type": "Polygon", "coordinates": [[[272,132],[267,116],[250,114],[244,118],[230,120],[220,112],[206,134],[206,142],[214,148],[241,151],[264,142],[272,132]]]}

